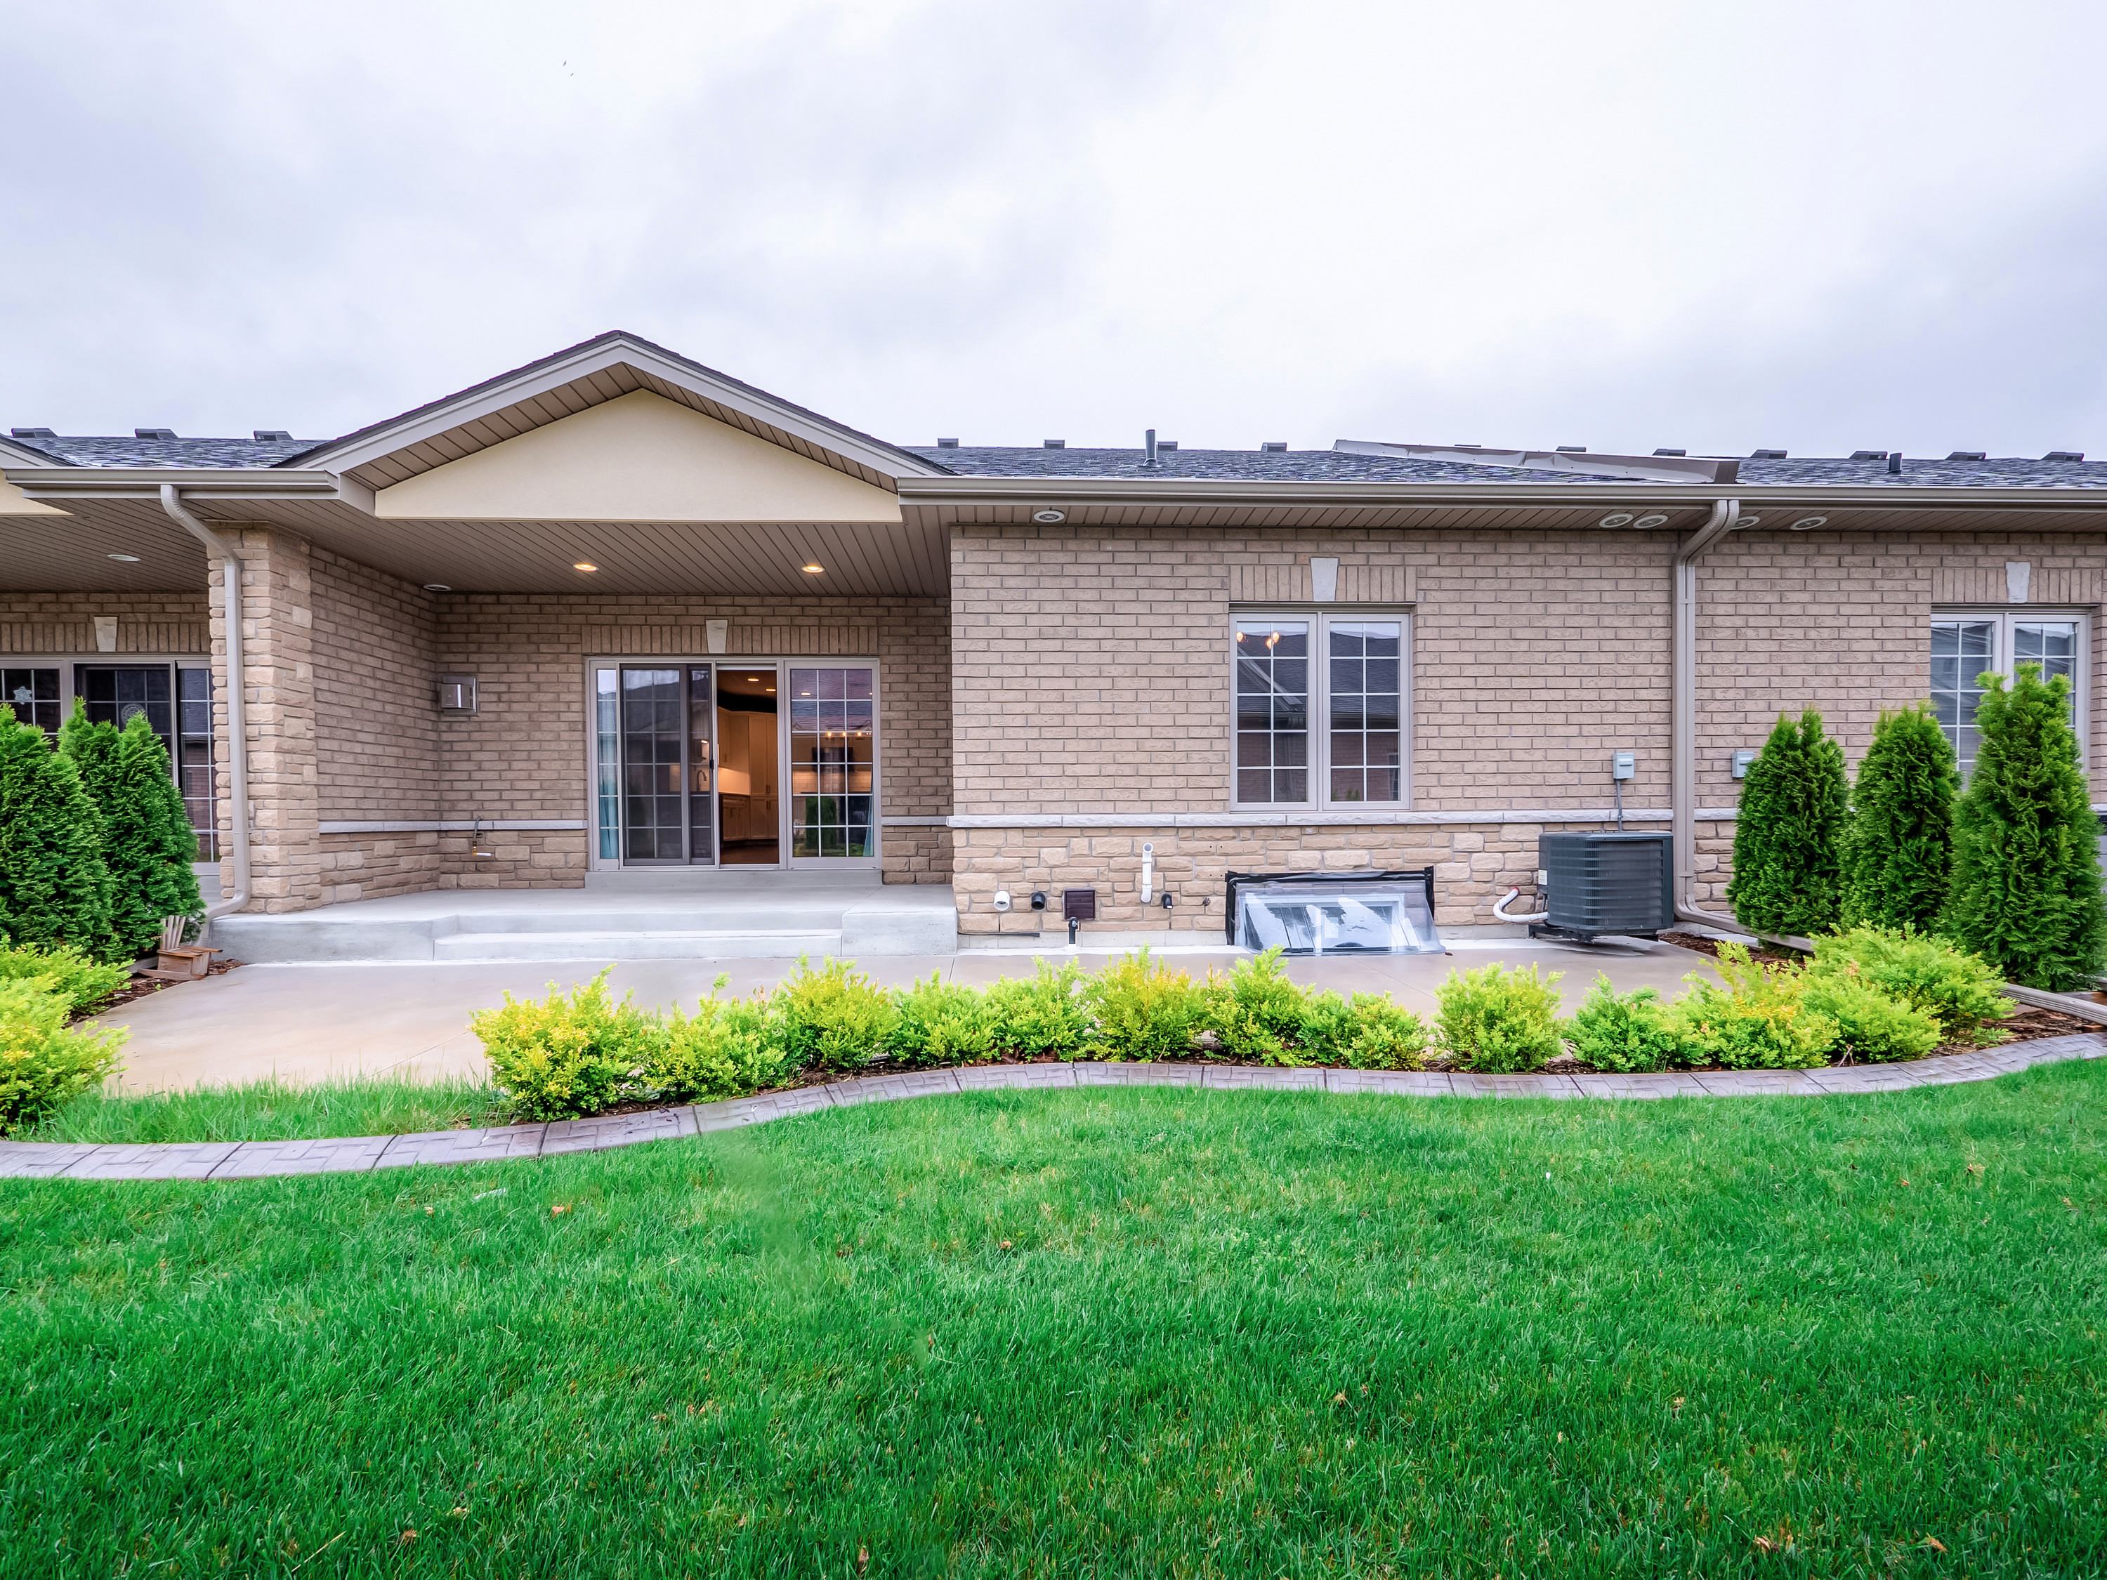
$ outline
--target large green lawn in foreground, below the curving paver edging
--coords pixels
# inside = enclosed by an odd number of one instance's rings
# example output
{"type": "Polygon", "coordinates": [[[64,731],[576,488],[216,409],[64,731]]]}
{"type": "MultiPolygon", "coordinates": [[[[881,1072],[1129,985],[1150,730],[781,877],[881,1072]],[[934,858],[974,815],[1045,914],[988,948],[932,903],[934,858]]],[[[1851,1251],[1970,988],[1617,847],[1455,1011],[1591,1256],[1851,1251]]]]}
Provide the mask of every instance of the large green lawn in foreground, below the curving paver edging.
{"type": "Polygon", "coordinates": [[[0,1572],[2099,1574],[2103,1119],[1091,1089],[8,1182],[0,1572]]]}

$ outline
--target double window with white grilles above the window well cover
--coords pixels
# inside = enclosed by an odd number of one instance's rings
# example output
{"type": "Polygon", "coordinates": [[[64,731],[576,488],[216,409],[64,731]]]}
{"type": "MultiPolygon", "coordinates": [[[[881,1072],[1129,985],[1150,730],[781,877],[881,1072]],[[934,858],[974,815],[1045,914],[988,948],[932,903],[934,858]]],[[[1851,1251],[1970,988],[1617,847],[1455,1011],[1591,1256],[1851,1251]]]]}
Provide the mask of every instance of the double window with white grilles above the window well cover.
{"type": "Polygon", "coordinates": [[[1403,613],[1239,613],[1237,807],[1401,807],[1410,794],[1412,621],[1403,613]]]}

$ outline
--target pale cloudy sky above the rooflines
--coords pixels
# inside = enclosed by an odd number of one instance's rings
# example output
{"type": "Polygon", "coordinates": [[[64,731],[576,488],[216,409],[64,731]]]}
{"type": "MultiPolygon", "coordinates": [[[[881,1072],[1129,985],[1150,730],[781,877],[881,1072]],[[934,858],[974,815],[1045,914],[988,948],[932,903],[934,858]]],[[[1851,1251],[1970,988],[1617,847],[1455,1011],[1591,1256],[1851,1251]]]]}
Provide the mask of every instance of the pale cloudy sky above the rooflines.
{"type": "Polygon", "coordinates": [[[6,4],[0,423],[2107,453],[2107,6],[6,4]]]}

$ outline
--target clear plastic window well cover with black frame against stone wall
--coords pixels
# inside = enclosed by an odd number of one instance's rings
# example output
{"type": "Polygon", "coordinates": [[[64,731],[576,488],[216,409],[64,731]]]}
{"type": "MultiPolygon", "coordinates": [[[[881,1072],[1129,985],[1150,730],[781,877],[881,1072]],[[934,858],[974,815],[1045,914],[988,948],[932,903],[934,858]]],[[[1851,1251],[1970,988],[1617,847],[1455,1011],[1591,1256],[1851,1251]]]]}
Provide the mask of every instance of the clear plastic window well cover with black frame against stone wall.
{"type": "Polygon", "coordinates": [[[1283,954],[1441,954],[1433,868],[1230,872],[1228,942],[1283,954]]]}

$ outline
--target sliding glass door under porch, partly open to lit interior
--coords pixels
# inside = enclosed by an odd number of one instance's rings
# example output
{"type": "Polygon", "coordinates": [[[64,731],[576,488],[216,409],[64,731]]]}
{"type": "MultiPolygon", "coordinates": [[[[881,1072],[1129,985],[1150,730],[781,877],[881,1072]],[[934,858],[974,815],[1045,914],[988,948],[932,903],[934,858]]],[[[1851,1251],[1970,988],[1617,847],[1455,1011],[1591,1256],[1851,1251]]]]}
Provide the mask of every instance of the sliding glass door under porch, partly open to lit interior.
{"type": "Polygon", "coordinates": [[[596,868],[879,864],[874,666],[596,661],[590,697],[596,868]]]}

